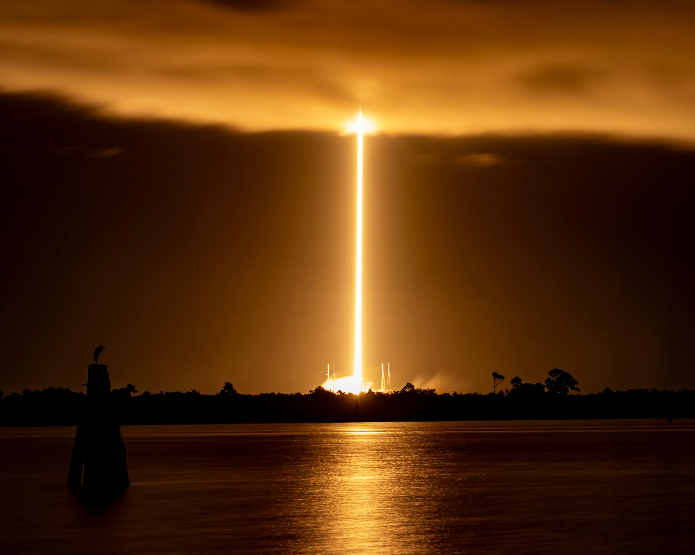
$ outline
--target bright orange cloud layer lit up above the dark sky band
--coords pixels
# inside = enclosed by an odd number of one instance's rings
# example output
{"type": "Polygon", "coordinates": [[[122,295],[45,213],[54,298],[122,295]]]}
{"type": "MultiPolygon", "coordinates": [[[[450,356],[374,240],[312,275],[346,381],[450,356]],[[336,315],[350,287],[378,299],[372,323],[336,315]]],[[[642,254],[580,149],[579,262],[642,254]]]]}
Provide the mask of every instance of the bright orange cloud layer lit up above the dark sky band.
{"type": "Polygon", "coordinates": [[[695,138],[695,7],[5,0],[0,87],[243,129],[695,138]]]}

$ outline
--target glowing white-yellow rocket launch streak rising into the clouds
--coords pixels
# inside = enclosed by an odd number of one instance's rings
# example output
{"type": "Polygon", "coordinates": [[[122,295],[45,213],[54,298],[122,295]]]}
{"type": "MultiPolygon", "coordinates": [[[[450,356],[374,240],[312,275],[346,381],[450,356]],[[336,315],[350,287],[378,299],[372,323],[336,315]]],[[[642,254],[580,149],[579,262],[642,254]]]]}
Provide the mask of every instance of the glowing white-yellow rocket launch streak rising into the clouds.
{"type": "MultiPolygon", "coordinates": [[[[345,125],[349,133],[357,134],[357,249],[355,256],[355,284],[354,284],[354,362],[352,376],[345,376],[336,380],[333,378],[334,391],[346,393],[359,393],[362,391],[362,152],[365,133],[374,131],[373,122],[362,118],[359,111],[357,121],[345,125]]],[[[329,387],[329,380],[324,387],[329,387]]]]}

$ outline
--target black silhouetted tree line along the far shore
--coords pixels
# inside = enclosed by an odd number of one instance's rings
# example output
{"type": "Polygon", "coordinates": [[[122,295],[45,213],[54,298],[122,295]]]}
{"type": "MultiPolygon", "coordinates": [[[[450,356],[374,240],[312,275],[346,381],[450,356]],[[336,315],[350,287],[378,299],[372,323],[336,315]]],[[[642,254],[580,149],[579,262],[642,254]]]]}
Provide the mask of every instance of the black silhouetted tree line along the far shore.
{"type": "MultiPolygon", "coordinates": [[[[436,393],[407,383],[395,392],[359,395],[316,387],[307,394],[240,394],[224,383],[217,394],[142,392],[132,384],[111,392],[121,424],[227,424],[235,422],[456,421],[612,418],[693,418],[695,391],[628,389],[590,394],[579,392],[578,381],[560,369],[548,372],[544,383],[523,383],[515,376],[509,389],[498,386],[505,377],[495,372],[493,392],[436,393]]],[[[63,387],[3,396],[0,426],[74,426],[85,410],[87,396],[63,387]]]]}

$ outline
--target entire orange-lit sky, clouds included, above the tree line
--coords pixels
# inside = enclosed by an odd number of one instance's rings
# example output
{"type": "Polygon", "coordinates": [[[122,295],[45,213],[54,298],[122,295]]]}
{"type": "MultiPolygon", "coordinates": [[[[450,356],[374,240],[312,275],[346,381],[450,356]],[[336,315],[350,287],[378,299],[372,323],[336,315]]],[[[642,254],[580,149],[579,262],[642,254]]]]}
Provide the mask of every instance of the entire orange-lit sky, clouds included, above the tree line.
{"type": "Polygon", "coordinates": [[[80,389],[97,344],[141,390],[350,373],[359,106],[370,380],[694,387],[693,29],[676,0],[4,0],[0,389],[80,389]]]}

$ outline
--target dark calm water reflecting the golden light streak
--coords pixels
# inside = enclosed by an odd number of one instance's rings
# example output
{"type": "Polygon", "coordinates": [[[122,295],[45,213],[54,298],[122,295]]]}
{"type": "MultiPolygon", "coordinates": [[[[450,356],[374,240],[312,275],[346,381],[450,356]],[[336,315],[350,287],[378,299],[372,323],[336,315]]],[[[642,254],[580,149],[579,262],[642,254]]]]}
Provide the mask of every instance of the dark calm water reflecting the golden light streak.
{"type": "Polygon", "coordinates": [[[65,487],[75,428],[0,428],[0,552],[695,552],[695,421],[124,427],[132,485],[65,487]]]}

